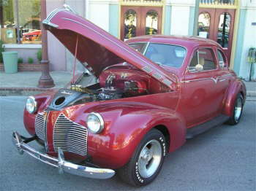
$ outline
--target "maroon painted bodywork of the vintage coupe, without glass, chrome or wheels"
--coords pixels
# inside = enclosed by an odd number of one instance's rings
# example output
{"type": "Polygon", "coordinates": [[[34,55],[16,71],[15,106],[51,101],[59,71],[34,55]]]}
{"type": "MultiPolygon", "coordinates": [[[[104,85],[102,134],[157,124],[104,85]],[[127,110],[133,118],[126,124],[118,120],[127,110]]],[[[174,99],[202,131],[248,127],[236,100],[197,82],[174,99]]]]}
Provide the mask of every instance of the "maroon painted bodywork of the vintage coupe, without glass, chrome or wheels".
{"type": "MultiPolygon", "coordinates": [[[[210,47],[214,50],[217,62],[217,48],[222,47],[216,42],[189,37],[178,36],[142,36],[131,39],[129,42],[157,42],[178,44],[187,48],[187,57],[179,69],[160,67],[152,63],[139,52],[132,50],[126,44],[110,36],[107,32],[83,20],[82,17],[69,12],[59,12],[53,17],[52,22],[59,25],[59,29],[50,31],[72,52],[75,46],[74,36],[82,35],[83,42],[78,44],[78,59],[88,61],[99,76],[99,84],[105,87],[105,79],[109,74],[116,74],[116,87],[122,88],[122,73],[127,74],[126,79],[139,82],[146,87],[149,95],[140,95],[109,101],[95,101],[86,104],[69,106],[57,112],[50,112],[48,116],[48,148],[53,152],[53,126],[60,113],[65,114],[70,120],[86,126],[86,117],[90,112],[98,112],[105,121],[102,133],[88,136],[88,154],[93,163],[107,168],[119,168],[127,163],[136,147],[151,128],[159,125],[167,128],[170,136],[169,152],[173,152],[185,143],[187,128],[211,120],[219,114],[231,115],[237,93],[242,93],[246,98],[244,83],[236,77],[233,71],[220,68],[213,71],[192,73],[187,70],[189,61],[197,47],[210,47]],[[67,22],[63,17],[77,20],[92,29],[83,28],[76,23],[67,22]],[[70,31],[67,31],[67,28],[70,31]],[[97,33],[95,33],[97,31],[97,33]],[[69,36],[65,36],[69,34],[69,36]],[[100,35],[99,35],[100,34],[100,35]],[[104,39],[101,35],[111,39],[104,39]],[[93,39],[94,42],[91,42],[93,39]],[[114,45],[115,42],[118,45],[114,45]],[[90,44],[91,43],[91,44],[90,44]],[[99,44],[97,44],[99,43],[99,44]],[[82,51],[84,45],[85,50],[82,51]],[[120,48],[123,47],[124,49],[120,48]],[[88,48],[88,49],[86,49],[88,48]],[[94,50],[95,52],[90,52],[94,50]],[[127,50],[129,50],[127,53],[127,50]],[[121,59],[120,59],[121,58],[121,59]],[[106,59],[108,61],[103,61],[106,59]],[[117,64],[127,61],[131,65],[117,64]],[[117,65],[116,65],[117,64],[117,65]],[[105,71],[106,66],[110,66],[105,71]],[[150,66],[153,71],[146,74],[141,71],[144,66],[150,66]],[[164,78],[170,79],[170,87],[163,85],[162,79],[155,79],[152,73],[158,72],[164,78]],[[225,78],[224,81],[218,80],[225,78]],[[191,82],[187,82],[192,80],[191,82]]],[[[222,50],[223,51],[223,50],[222,50]]],[[[226,63],[228,64],[228,63],[226,63]]],[[[54,93],[35,96],[39,109],[42,112],[54,93]]],[[[34,134],[34,116],[24,112],[24,124],[29,133],[34,134]]],[[[67,153],[66,153],[67,154],[67,153]]],[[[67,154],[69,157],[78,156],[67,154]]]]}

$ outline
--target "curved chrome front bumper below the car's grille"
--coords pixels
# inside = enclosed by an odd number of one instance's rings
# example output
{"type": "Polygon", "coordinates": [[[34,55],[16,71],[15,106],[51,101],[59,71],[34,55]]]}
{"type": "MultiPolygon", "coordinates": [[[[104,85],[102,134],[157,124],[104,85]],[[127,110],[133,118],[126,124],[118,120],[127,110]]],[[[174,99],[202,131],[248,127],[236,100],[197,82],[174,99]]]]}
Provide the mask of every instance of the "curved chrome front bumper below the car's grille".
{"type": "Polygon", "coordinates": [[[23,155],[23,153],[26,152],[37,160],[40,160],[42,163],[46,163],[48,165],[59,168],[60,174],[67,172],[69,174],[75,174],[92,179],[109,179],[115,175],[115,171],[111,169],[91,168],[88,166],[70,163],[64,160],[64,154],[60,148],[58,150],[58,158],[39,152],[36,149],[30,147],[28,144],[24,143],[23,139],[17,132],[12,133],[12,142],[18,149],[20,155],[23,155]]]}

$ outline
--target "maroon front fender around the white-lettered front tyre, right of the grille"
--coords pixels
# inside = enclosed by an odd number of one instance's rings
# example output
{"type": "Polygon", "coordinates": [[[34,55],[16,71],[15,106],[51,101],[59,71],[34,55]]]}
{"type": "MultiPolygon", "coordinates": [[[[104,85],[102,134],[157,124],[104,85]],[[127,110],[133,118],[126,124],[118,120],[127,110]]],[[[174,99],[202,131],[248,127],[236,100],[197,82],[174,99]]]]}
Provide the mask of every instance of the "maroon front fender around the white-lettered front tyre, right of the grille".
{"type": "Polygon", "coordinates": [[[170,109],[134,102],[101,105],[89,110],[101,114],[105,121],[102,133],[89,133],[88,136],[89,155],[93,163],[102,167],[120,168],[125,165],[143,136],[157,125],[165,126],[170,134],[169,151],[185,142],[185,121],[170,109]]]}

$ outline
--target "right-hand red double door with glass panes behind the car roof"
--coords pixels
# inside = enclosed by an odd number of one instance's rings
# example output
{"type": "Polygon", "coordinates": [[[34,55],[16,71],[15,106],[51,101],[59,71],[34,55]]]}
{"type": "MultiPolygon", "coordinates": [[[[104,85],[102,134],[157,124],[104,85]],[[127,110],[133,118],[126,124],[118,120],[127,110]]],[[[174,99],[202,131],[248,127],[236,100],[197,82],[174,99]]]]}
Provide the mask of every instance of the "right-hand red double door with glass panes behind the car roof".
{"type": "Polygon", "coordinates": [[[221,44],[230,61],[236,9],[200,8],[198,35],[221,44]]]}

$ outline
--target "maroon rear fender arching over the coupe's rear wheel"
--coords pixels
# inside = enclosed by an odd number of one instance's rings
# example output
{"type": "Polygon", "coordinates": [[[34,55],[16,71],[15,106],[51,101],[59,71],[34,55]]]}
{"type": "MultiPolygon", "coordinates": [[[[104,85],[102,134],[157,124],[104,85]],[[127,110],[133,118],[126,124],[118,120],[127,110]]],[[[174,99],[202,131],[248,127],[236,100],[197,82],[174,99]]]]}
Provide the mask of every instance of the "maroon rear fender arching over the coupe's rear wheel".
{"type": "Polygon", "coordinates": [[[245,101],[246,86],[244,85],[244,82],[241,81],[241,79],[236,79],[230,85],[225,98],[223,114],[226,114],[227,116],[230,116],[230,117],[233,115],[233,109],[236,103],[236,95],[238,95],[238,93],[241,93],[244,96],[244,101],[245,101]]]}

